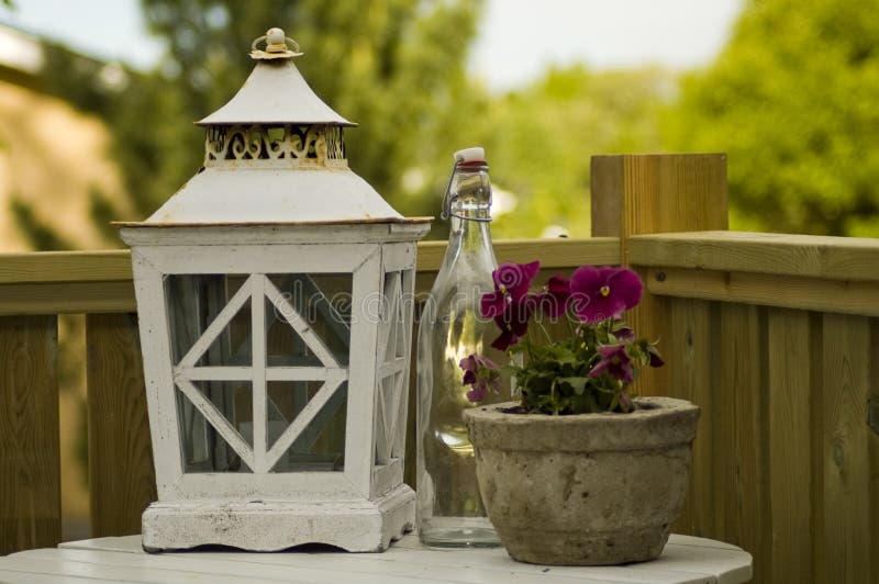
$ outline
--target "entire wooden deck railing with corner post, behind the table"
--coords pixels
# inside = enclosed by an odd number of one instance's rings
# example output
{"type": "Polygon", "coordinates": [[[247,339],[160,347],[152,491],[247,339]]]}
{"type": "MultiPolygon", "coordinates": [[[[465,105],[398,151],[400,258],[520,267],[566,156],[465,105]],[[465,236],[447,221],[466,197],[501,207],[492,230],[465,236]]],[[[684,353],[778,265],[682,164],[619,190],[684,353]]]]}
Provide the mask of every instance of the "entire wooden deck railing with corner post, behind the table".
{"type": "MultiPolygon", "coordinates": [[[[638,389],[702,407],[675,530],[744,547],[755,582],[879,581],[879,240],[705,231],[726,228],[721,155],[599,157],[592,181],[601,237],[496,251],[642,273],[668,364],[638,389]]],[[[444,246],[420,246],[419,291],[444,246]]],[[[0,256],[0,553],[59,539],[57,314],[87,314],[93,535],[138,532],[155,498],[129,259],[0,256]]]]}

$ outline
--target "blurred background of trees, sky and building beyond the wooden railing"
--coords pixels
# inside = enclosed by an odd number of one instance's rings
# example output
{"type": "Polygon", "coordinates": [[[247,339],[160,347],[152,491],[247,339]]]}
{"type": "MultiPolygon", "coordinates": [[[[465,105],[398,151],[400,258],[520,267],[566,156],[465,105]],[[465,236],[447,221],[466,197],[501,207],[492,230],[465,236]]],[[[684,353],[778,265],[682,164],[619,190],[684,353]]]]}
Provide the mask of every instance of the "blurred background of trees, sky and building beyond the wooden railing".
{"type": "MultiPolygon", "coordinates": [[[[483,145],[496,237],[588,236],[591,155],[725,151],[733,229],[879,237],[876,0],[0,0],[0,251],[121,247],[109,222],[201,166],[192,122],[270,26],[403,214],[438,215],[452,153],[483,145]]],[[[88,536],[76,359],[67,538],[88,536]]]]}

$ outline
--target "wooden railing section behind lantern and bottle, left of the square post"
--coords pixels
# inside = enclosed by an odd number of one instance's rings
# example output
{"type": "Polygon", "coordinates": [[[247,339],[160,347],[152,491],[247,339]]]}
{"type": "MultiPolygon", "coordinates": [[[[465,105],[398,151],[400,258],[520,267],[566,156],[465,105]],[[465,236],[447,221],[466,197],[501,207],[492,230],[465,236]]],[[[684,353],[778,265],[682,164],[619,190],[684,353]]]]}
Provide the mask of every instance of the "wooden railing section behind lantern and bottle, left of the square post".
{"type": "MultiPolygon", "coordinates": [[[[499,261],[536,257],[563,272],[620,260],[613,237],[494,247],[499,261]]],[[[419,246],[420,293],[430,291],[444,252],[445,242],[419,246]]],[[[0,554],[60,537],[57,315],[65,313],[86,314],[92,535],[138,532],[141,513],[156,498],[130,252],[0,256],[0,554]]],[[[411,468],[407,474],[413,482],[411,468]]]]}

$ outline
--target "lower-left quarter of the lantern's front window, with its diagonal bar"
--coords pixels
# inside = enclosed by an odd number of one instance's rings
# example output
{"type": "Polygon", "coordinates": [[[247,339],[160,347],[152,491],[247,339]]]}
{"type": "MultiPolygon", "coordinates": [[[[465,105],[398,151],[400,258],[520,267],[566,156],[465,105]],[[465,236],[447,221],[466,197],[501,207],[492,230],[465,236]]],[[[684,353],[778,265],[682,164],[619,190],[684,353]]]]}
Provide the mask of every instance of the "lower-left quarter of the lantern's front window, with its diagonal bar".
{"type": "Polygon", "coordinates": [[[253,450],[253,391],[249,381],[183,381],[209,405],[177,391],[183,472],[252,472],[241,450],[253,450]],[[199,407],[199,404],[201,407],[199,407]],[[211,407],[212,406],[212,407],[211,407]],[[207,412],[205,412],[207,409],[207,412]],[[207,415],[205,415],[207,414],[207,415]],[[229,424],[223,424],[225,419],[229,424]],[[233,434],[232,443],[218,428],[233,434]],[[237,440],[235,440],[237,438],[237,440]],[[237,450],[237,451],[236,451],[237,450]]]}

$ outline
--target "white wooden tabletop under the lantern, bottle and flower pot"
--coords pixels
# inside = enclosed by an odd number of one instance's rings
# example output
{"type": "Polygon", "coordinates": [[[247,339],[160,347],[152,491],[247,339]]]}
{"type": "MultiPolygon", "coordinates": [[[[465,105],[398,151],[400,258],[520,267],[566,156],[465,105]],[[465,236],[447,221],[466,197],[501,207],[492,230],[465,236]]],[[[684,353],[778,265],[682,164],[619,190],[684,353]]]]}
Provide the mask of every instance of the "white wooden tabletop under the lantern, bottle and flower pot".
{"type": "Polygon", "coordinates": [[[88,539],[0,558],[0,582],[204,582],[302,584],[664,583],[736,584],[750,580],[750,554],[735,546],[671,536],[653,562],[607,568],[519,563],[503,549],[435,551],[409,535],[383,553],[196,551],[148,554],[140,536],[88,539]]]}

